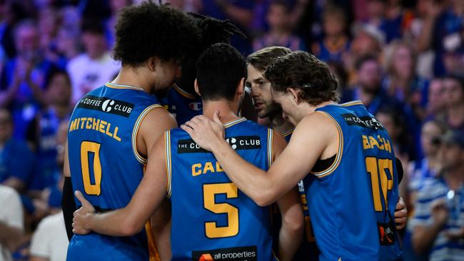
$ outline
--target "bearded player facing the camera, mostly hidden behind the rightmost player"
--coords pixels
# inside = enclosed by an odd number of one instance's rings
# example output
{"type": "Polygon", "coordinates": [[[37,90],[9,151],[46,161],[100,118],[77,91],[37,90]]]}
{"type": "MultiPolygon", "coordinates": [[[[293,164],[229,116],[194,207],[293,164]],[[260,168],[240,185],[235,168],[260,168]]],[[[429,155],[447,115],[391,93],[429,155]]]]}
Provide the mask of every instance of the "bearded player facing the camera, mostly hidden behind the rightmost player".
{"type": "MultiPolygon", "coordinates": [[[[263,73],[272,61],[278,57],[291,53],[291,50],[281,46],[266,47],[261,50],[251,53],[248,58],[248,78],[246,85],[251,88],[251,98],[256,108],[258,118],[268,118],[269,126],[274,131],[282,133],[283,137],[290,141],[291,134],[295,127],[289,121],[282,117],[282,108],[272,100],[271,83],[264,78],[263,73]]],[[[258,121],[259,122],[259,121],[258,121]]],[[[306,194],[304,192],[303,180],[298,183],[300,192],[301,205],[305,215],[306,236],[303,237],[303,243],[298,250],[294,260],[318,260],[319,250],[316,246],[316,241],[311,227],[311,221],[308,213],[308,205],[306,204],[306,194]]],[[[405,227],[407,210],[402,199],[398,201],[395,210],[395,223],[398,230],[405,227]]],[[[278,215],[273,218],[273,225],[278,225],[278,215]]],[[[276,237],[275,232],[273,236],[276,237]]]]}

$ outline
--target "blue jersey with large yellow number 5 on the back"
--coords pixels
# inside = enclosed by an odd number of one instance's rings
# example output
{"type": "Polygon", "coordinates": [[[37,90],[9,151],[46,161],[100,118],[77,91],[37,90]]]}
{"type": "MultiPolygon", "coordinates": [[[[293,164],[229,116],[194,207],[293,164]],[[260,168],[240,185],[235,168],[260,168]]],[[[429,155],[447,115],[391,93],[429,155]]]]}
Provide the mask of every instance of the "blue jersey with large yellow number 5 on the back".
{"type": "MultiPolygon", "coordinates": [[[[268,170],[273,131],[245,118],[225,127],[231,147],[268,170]]],[[[214,155],[186,132],[174,129],[165,138],[173,260],[276,260],[268,207],[238,190],[214,155]]]]}

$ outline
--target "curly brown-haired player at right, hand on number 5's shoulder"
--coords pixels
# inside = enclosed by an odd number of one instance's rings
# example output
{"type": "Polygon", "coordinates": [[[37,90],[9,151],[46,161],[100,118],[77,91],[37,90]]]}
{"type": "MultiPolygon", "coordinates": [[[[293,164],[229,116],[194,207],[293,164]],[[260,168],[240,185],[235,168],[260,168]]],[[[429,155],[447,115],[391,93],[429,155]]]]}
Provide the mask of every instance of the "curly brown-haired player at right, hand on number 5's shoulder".
{"type": "Polygon", "coordinates": [[[258,205],[272,203],[303,179],[320,260],[400,260],[393,220],[398,175],[383,126],[358,101],[337,104],[336,79],[311,54],[277,58],[264,76],[283,118],[296,126],[267,172],[224,142],[218,113],[214,121],[197,116],[181,127],[258,205]]]}

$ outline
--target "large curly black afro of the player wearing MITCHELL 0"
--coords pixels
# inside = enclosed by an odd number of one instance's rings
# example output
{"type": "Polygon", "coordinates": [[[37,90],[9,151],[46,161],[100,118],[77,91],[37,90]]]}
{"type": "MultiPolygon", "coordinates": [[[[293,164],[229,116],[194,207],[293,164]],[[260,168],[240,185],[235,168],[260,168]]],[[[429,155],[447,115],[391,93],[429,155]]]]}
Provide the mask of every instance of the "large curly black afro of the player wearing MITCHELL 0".
{"type": "Polygon", "coordinates": [[[146,1],[119,13],[114,58],[123,66],[139,66],[153,56],[181,60],[197,39],[196,26],[182,11],[146,1]]]}

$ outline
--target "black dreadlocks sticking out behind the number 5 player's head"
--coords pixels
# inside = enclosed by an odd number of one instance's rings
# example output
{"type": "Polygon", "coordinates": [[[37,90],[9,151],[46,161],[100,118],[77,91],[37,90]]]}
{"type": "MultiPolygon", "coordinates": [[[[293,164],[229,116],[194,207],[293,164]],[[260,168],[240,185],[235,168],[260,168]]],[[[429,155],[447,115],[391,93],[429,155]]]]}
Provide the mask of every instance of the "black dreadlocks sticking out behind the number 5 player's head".
{"type": "Polygon", "coordinates": [[[213,44],[230,44],[233,35],[246,37],[237,26],[228,20],[218,20],[210,16],[203,16],[196,13],[188,13],[196,23],[200,35],[198,41],[192,42],[193,51],[188,53],[187,58],[182,61],[182,76],[177,83],[184,91],[195,93],[193,81],[196,78],[196,61],[203,51],[213,44]]]}

